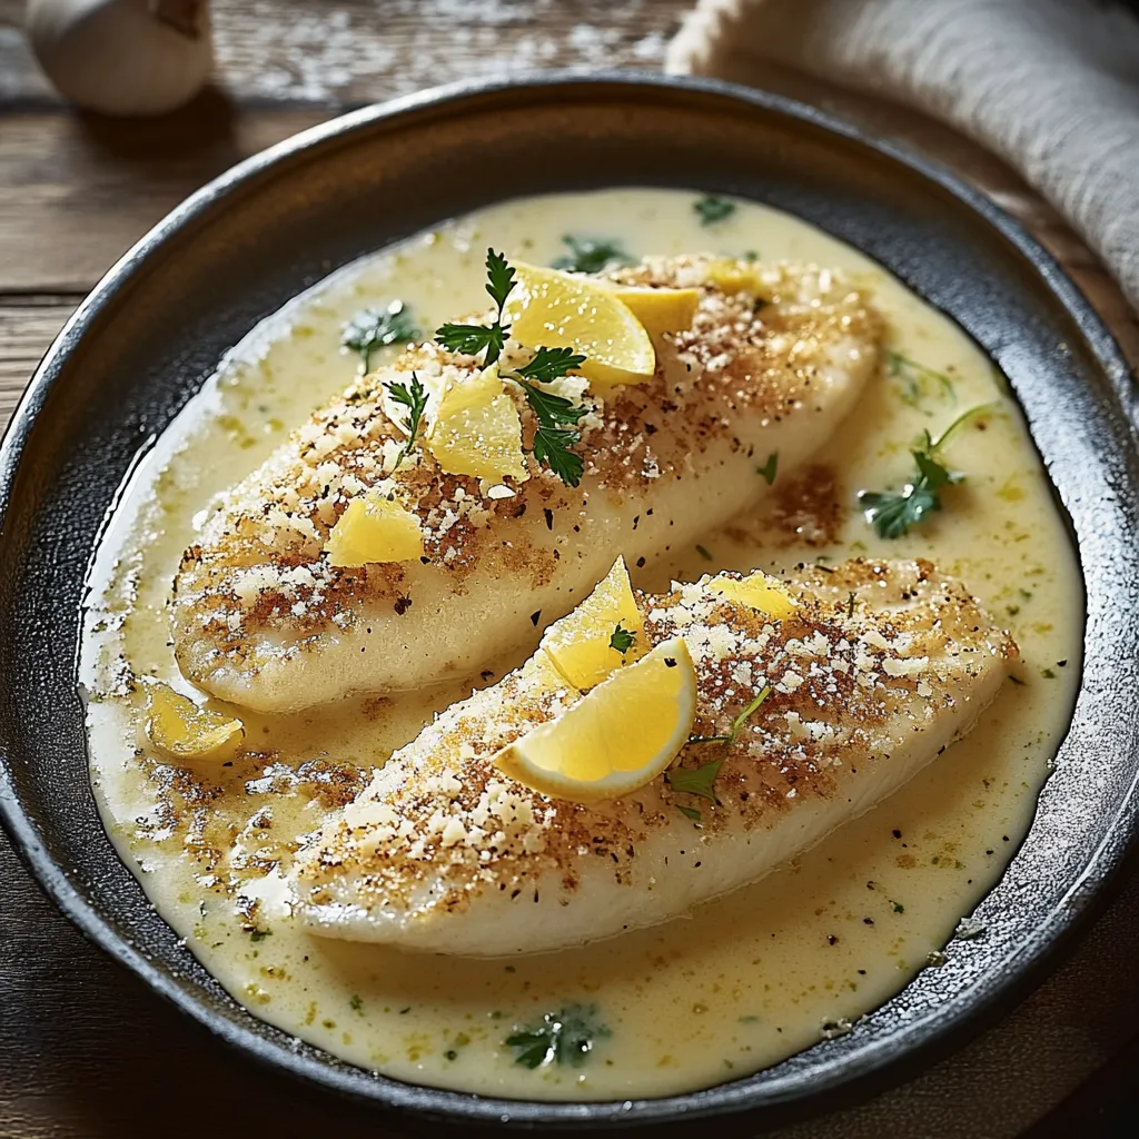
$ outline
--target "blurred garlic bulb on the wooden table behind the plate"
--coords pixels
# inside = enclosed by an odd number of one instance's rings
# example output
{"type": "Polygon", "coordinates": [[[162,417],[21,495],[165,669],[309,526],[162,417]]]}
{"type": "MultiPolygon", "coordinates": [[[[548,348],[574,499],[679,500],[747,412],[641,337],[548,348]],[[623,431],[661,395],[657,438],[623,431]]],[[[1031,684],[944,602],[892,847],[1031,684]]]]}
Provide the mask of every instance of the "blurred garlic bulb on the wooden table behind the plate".
{"type": "Polygon", "coordinates": [[[206,0],[28,0],[27,34],[60,93],[107,115],[173,110],[213,63],[206,0]]]}

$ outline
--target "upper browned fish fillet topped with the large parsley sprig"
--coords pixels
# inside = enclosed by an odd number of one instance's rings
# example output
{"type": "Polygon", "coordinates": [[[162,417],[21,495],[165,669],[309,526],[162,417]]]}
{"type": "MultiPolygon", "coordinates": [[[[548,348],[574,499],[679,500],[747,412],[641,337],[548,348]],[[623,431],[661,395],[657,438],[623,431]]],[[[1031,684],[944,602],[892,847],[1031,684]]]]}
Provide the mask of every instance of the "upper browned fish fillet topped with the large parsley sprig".
{"type": "MultiPolygon", "coordinates": [[[[408,383],[415,369],[437,390],[478,371],[434,344],[412,346],[317,412],[222,495],[183,556],[173,636],[186,677],[273,712],[475,675],[536,644],[618,554],[644,565],[752,506],[768,490],[756,467],[769,454],[778,452],[780,473],[794,467],[854,405],[877,367],[882,319],[826,269],[754,269],[761,300],[714,284],[716,264],[654,260],[622,271],[626,284],[702,286],[693,327],[657,343],[652,382],[604,402],[577,378],[550,385],[591,409],[576,489],[528,454],[527,480],[493,486],[444,473],[423,448],[392,475],[404,434],[384,385],[408,383]],[[330,565],[329,530],[376,486],[418,517],[423,560],[330,565]]],[[[507,387],[528,449],[533,417],[507,387]]],[[[432,413],[428,404],[428,423],[432,413]]]]}

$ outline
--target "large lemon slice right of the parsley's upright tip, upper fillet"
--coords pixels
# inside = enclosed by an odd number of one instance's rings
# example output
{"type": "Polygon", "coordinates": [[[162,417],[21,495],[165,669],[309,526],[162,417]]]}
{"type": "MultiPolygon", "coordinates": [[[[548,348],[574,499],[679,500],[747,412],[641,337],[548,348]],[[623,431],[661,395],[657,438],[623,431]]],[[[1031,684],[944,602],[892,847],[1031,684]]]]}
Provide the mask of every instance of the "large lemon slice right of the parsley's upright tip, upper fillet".
{"type": "Polygon", "coordinates": [[[507,302],[510,335],[527,347],[572,347],[595,391],[641,384],[656,371],[645,326],[611,287],[589,277],[514,262],[518,285],[507,302]]]}

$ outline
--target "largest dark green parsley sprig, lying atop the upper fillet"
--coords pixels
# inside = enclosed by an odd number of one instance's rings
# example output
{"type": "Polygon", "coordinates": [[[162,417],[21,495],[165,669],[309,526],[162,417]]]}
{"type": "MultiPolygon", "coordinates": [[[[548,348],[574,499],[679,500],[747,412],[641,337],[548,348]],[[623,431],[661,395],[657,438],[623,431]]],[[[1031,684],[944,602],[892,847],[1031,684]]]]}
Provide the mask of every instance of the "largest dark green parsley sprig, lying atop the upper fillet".
{"type": "MultiPolygon", "coordinates": [[[[443,325],[436,330],[435,339],[451,352],[461,352],[464,355],[485,352],[484,367],[497,363],[510,335],[510,326],[502,322],[502,314],[507,297],[516,284],[515,271],[506,257],[494,249],[487,249],[486,292],[498,308],[493,322],[489,326],[443,325]]],[[[584,460],[573,451],[581,442],[577,424],[585,415],[585,408],[565,396],[547,392],[539,385],[568,376],[584,362],[585,357],[571,347],[540,347],[530,363],[500,372],[505,379],[514,380],[522,388],[530,410],[534,413],[534,458],[549,467],[567,486],[576,486],[585,469],[584,460]]]]}

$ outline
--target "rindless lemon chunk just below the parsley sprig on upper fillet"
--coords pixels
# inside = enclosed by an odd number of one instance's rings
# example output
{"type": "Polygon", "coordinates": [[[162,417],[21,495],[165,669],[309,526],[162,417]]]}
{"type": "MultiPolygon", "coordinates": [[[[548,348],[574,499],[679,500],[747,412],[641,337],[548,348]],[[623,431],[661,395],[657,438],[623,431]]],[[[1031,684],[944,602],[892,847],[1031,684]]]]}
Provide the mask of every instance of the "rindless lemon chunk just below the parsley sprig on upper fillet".
{"type": "Polygon", "coordinates": [[[498,366],[446,388],[425,440],[439,465],[452,475],[499,482],[530,477],[522,453],[522,420],[507,395],[498,366]]]}

